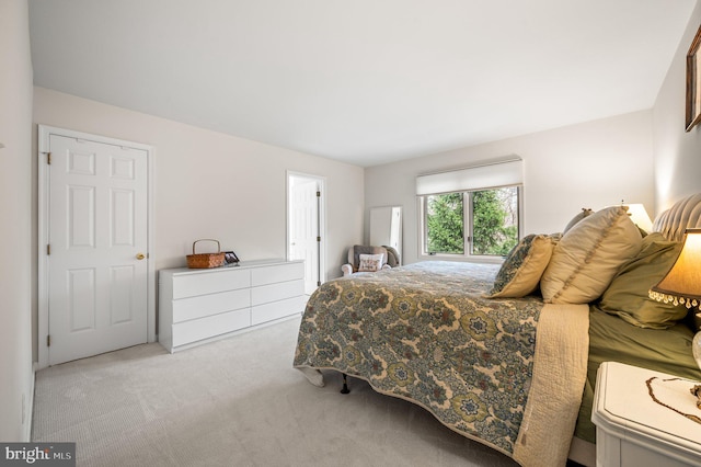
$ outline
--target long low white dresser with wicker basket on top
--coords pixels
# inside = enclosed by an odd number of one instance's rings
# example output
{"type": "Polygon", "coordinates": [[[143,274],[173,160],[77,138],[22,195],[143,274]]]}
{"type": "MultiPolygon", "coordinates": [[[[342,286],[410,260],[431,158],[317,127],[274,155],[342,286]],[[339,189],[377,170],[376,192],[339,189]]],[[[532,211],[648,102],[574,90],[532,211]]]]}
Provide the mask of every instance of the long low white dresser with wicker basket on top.
{"type": "Polygon", "coordinates": [[[159,271],[159,342],[170,352],[303,311],[304,262],[159,271]]]}

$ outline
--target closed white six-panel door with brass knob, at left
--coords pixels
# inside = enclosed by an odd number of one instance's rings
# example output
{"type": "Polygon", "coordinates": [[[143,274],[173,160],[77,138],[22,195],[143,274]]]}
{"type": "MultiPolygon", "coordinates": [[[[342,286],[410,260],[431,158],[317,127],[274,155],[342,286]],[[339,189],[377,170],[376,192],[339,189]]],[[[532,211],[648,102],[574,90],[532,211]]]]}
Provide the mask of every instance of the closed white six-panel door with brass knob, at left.
{"type": "Polygon", "coordinates": [[[147,151],[51,134],[49,152],[48,364],[147,342],[147,151]]]}

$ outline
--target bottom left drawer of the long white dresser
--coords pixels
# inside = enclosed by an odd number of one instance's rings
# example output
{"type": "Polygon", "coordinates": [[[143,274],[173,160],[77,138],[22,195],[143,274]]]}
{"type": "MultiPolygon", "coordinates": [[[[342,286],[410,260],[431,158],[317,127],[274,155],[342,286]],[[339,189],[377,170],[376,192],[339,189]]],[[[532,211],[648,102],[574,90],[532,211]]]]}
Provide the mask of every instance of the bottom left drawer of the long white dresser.
{"type": "Polygon", "coordinates": [[[251,309],[245,308],[193,321],[173,324],[173,346],[209,339],[251,326],[251,309]]]}

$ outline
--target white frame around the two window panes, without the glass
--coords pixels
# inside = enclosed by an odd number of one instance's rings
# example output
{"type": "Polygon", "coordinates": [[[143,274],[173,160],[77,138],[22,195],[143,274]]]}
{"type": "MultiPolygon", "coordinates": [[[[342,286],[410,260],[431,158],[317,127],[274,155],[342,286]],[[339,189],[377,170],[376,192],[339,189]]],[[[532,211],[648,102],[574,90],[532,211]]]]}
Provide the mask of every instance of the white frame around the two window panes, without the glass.
{"type": "Polygon", "coordinates": [[[490,186],[483,189],[474,189],[474,190],[461,190],[455,192],[447,193],[432,193],[424,194],[417,196],[417,205],[418,205],[418,224],[420,224],[420,241],[418,241],[418,258],[423,260],[430,259],[440,259],[448,261],[479,261],[479,262],[502,262],[504,259],[503,255],[495,254],[473,254],[473,234],[472,226],[474,224],[474,209],[473,209],[473,196],[471,193],[487,191],[487,190],[499,190],[515,187],[516,196],[517,196],[517,223],[518,223],[518,232],[517,240],[521,240],[522,238],[522,226],[524,226],[524,185],[522,183],[504,185],[504,186],[490,186]],[[428,214],[428,197],[450,194],[450,193],[461,193],[462,194],[462,223],[463,223],[463,253],[429,253],[427,251],[428,246],[428,223],[426,220],[426,216],[428,214]]]}

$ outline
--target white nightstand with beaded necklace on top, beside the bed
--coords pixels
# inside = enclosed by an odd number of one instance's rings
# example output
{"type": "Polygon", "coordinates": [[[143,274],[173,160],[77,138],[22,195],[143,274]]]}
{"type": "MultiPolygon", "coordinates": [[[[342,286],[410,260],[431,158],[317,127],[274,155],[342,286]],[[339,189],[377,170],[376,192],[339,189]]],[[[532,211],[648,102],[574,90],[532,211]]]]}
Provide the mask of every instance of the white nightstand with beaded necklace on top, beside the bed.
{"type": "Polygon", "coordinates": [[[651,369],[606,362],[599,367],[591,421],[596,424],[596,464],[601,467],[700,466],[701,417],[693,383],[651,369]]]}

